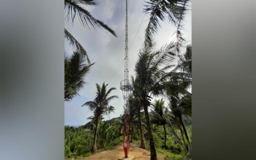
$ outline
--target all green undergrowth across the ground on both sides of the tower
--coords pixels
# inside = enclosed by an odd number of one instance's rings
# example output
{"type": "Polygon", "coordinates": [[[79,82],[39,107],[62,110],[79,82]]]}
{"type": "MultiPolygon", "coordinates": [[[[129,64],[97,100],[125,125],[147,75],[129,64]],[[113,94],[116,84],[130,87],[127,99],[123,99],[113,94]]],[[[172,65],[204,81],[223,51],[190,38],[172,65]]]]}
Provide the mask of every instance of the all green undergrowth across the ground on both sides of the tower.
{"type": "MultiPolygon", "coordinates": [[[[143,113],[142,113],[143,114],[143,113]]],[[[187,120],[191,123],[191,120],[187,120]]],[[[142,118],[142,122],[145,119],[142,118]]],[[[139,147],[140,135],[139,127],[134,127],[134,139],[131,145],[139,147]]],[[[123,127],[122,119],[114,118],[110,121],[99,122],[99,134],[97,135],[97,150],[112,150],[116,145],[120,145],[123,140],[121,130],[123,127]]],[[[189,138],[191,139],[191,124],[186,125],[188,129],[189,138]]],[[[70,127],[65,126],[65,158],[81,158],[91,155],[91,146],[93,145],[93,131],[94,128],[92,122],[88,122],[85,126],[70,127]]],[[[178,142],[170,132],[170,128],[167,127],[167,147],[163,148],[164,142],[164,130],[163,127],[157,124],[153,124],[153,135],[155,140],[156,152],[159,155],[165,157],[165,159],[186,159],[184,156],[184,148],[178,142]]],[[[146,127],[143,127],[146,132],[146,127]]],[[[178,132],[178,128],[175,128],[178,132]]],[[[147,132],[145,135],[148,135],[147,132]]],[[[180,136],[180,135],[179,135],[180,136]]],[[[147,150],[149,150],[149,140],[145,138],[147,144],[147,150]]]]}

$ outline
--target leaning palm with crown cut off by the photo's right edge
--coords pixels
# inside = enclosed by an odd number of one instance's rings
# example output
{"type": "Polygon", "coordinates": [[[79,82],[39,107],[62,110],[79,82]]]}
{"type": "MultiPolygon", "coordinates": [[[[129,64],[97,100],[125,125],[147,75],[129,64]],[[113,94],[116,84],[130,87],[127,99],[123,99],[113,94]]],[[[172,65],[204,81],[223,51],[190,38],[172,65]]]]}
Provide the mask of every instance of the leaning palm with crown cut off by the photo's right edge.
{"type": "Polygon", "coordinates": [[[171,78],[167,82],[168,99],[170,100],[171,113],[181,131],[186,154],[191,156],[191,143],[184,126],[183,116],[191,116],[191,97],[188,92],[192,83],[192,47],[187,46],[183,55],[178,55],[178,65],[171,71],[171,78]]]}

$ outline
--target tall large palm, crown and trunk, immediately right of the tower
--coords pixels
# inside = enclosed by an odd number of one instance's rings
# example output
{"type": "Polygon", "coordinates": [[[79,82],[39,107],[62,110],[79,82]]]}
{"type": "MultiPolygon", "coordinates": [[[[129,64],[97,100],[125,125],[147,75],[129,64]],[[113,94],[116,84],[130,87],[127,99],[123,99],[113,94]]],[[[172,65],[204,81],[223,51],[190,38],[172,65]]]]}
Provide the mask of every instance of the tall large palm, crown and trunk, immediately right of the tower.
{"type": "Polygon", "coordinates": [[[168,70],[170,70],[171,65],[168,65],[170,62],[164,62],[173,59],[173,53],[162,53],[163,49],[152,52],[151,48],[152,46],[146,46],[143,50],[140,50],[139,59],[135,65],[135,73],[136,79],[138,79],[136,85],[138,85],[138,89],[140,90],[139,98],[144,109],[149,134],[151,159],[157,159],[148,106],[151,105],[152,96],[166,95],[165,82],[170,78],[168,70]]]}

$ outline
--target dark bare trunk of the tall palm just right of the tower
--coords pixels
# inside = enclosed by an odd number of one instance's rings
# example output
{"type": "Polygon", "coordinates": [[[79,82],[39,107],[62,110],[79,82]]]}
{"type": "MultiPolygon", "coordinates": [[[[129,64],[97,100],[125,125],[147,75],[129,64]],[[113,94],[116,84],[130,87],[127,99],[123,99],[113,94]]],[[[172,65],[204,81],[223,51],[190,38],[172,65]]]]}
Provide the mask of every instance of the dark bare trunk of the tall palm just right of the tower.
{"type": "Polygon", "coordinates": [[[149,132],[149,146],[151,148],[151,160],[157,160],[157,152],[155,151],[155,142],[152,134],[151,121],[149,119],[149,112],[147,111],[147,106],[143,105],[146,124],[147,124],[147,132],[149,132]]]}

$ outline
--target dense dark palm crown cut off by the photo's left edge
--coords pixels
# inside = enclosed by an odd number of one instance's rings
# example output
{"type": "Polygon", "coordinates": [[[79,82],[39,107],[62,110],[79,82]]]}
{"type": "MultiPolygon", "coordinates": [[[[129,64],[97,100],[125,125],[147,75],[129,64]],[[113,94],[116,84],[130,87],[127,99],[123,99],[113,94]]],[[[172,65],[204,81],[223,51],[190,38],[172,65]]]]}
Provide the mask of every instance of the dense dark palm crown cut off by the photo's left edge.
{"type": "Polygon", "coordinates": [[[86,59],[79,52],[65,56],[65,101],[72,100],[78,91],[86,84],[85,76],[89,73],[91,66],[86,64],[86,59]]]}

